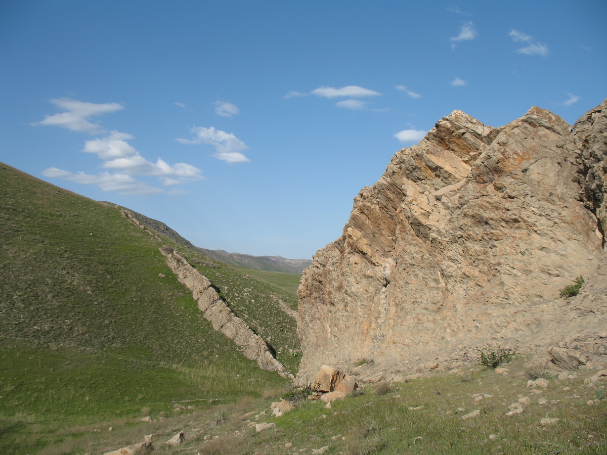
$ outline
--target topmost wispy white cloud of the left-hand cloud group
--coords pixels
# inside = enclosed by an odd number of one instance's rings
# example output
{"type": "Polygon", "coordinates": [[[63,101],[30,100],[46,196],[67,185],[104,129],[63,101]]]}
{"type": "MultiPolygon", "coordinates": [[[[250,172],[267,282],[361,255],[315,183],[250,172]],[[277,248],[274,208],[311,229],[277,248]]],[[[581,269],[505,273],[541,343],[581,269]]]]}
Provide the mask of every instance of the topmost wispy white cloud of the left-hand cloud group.
{"type": "Polygon", "coordinates": [[[97,123],[91,123],[90,117],[124,109],[118,103],[95,104],[69,98],[51,99],[50,102],[66,112],[46,115],[44,120],[32,125],[52,125],[80,133],[97,134],[103,132],[103,129],[97,123]]]}

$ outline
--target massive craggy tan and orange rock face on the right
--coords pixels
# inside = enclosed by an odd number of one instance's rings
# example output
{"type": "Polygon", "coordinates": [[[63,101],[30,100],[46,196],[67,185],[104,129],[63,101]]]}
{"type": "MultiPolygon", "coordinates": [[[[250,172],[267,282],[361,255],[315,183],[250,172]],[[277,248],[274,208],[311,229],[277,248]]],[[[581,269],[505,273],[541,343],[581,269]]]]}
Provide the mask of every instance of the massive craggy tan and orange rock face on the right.
{"type": "Polygon", "coordinates": [[[360,379],[390,379],[495,343],[607,356],[606,105],[575,130],[538,107],[500,128],[456,110],[399,150],[302,276],[297,382],[361,359],[360,379]]]}

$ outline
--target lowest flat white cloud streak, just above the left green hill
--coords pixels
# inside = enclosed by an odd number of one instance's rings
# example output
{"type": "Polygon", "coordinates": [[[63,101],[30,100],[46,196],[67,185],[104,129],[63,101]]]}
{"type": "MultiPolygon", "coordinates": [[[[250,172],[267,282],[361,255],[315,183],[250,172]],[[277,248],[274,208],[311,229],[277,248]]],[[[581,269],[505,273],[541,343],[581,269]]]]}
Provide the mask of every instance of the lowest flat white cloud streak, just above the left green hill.
{"type": "Polygon", "coordinates": [[[111,174],[110,172],[102,172],[98,175],[84,174],[84,172],[73,174],[69,170],[49,167],[49,169],[42,171],[42,175],[49,178],[63,178],[63,180],[75,183],[98,186],[104,191],[118,194],[148,195],[163,192],[160,188],[149,186],[127,174],[111,174]]]}

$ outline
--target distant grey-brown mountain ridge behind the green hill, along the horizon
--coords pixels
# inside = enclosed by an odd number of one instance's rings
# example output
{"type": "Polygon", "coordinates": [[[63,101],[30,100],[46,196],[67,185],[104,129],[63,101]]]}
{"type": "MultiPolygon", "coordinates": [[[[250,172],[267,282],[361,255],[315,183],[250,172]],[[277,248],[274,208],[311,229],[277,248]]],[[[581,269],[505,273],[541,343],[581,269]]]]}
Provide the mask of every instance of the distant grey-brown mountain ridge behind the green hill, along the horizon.
{"type": "MultiPolygon", "coordinates": [[[[116,205],[110,202],[104,202],[104,204],[110,204],[112,206],[116,205]]],[[[305,268],[307,268],[312,263],[310,259],[288,259],[283,258],[282,256],[252,256],[249,254],[242,253],[230,253],[223,249],[211,250],[206,248],[200,248],[192,244],[191,241],[189,241],[188,239],[181,237],[181,235],[178,234],[177,231],[167,226],[162,221],[146,217],[145,215],[135,212],[129,209],[128,207],[120,207],[131,212],[133,217],[141,224],[148,227],[148,229],[152,229],[152,231],[156,231],[160,234],[166,235],[172,241],[175,241],[180,245],[195,249],[196,251],[200,251],[202,252],[202,254],[210,258],[222,261],[223,263],[226,263],[231,266],[244,266],[250,269],[299,275],[304,271],[305,268]]]]}

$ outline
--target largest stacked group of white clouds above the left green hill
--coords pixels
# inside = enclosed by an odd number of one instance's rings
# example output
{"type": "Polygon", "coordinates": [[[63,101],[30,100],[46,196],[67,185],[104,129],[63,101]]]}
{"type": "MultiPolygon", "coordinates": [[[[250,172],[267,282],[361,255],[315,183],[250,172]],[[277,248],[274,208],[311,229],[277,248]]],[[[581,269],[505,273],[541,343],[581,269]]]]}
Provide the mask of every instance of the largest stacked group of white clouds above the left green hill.
{"type": "Polygon", "coordinates": [[[101,129],[98,124],[90,123],[87,120],[93,115],[123,109],[120,104],[93,104],[75,99],[52,99],[51,102],[62,109],[66,109],[67,112],[47,116],[38,124],[59,126],[93,135],[103,135],[103,137],[85,141],[84,148],[81,151],[95,153],[103,160],[102,168],[117,172],[106,170],[98,175],[84,172],[74,174],[69,170],[50,167],[42,172],[46,177],[63,178],[76,183],[95,185],[105,191],[132,195],[166,192],[161,188],[135,179],[134,175],[155,177],[163,186],[172,186],[203,178],[200,169],[191,164],[177,163],[171,166],[161,158],[152,163],[142,157],[135,147],[127,142],[133,139],[130,134],[119,131],[107,132],[101,129]]]}

